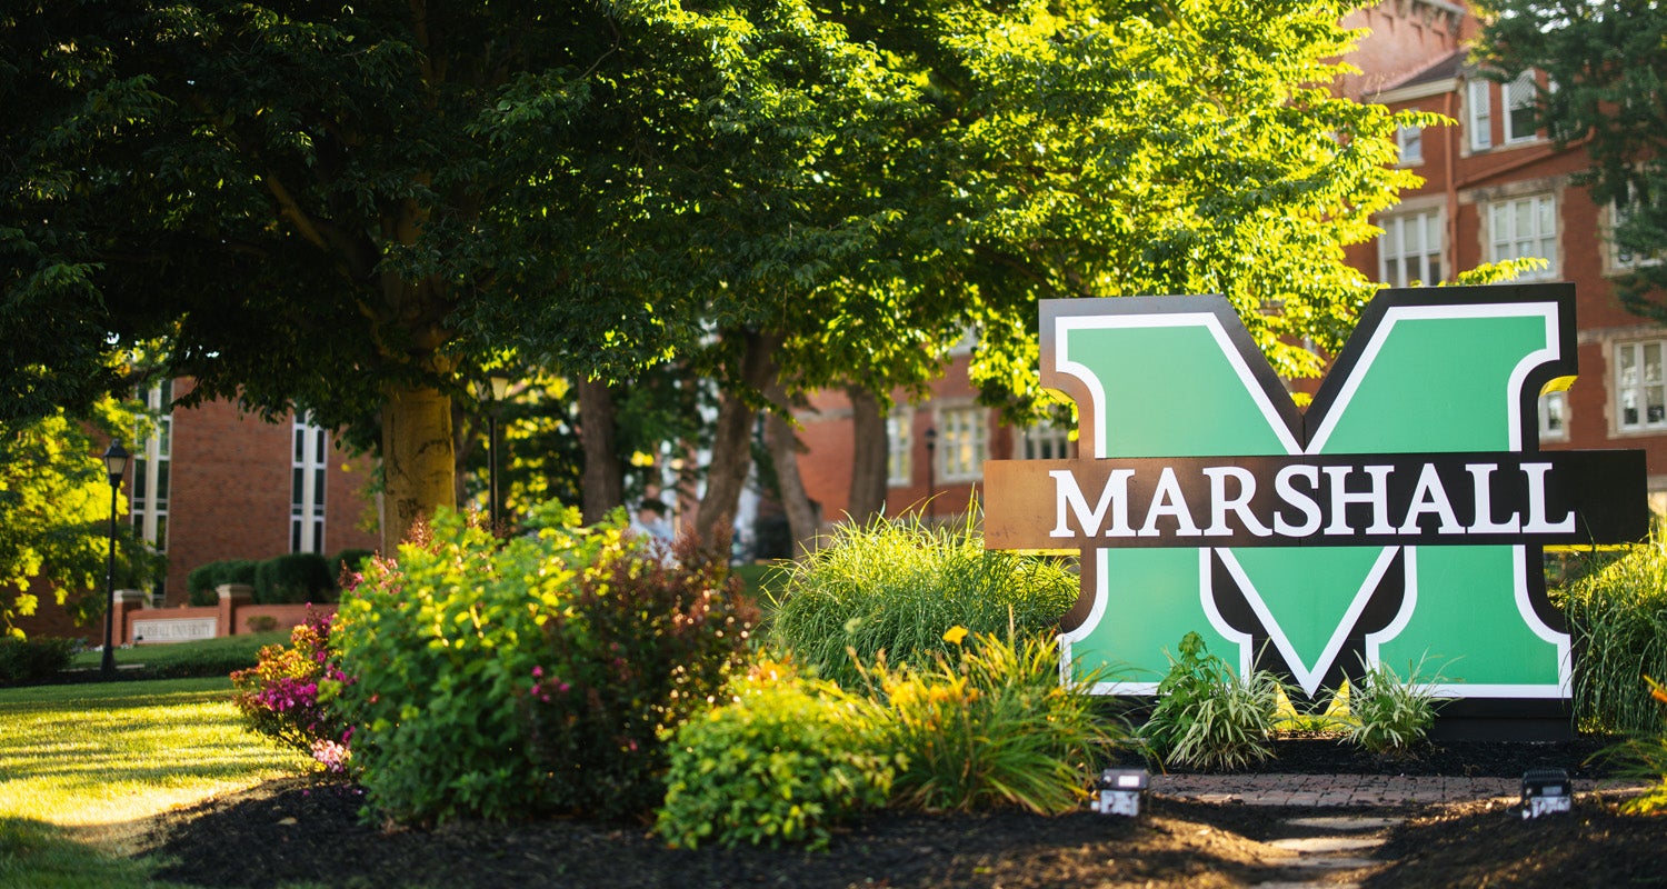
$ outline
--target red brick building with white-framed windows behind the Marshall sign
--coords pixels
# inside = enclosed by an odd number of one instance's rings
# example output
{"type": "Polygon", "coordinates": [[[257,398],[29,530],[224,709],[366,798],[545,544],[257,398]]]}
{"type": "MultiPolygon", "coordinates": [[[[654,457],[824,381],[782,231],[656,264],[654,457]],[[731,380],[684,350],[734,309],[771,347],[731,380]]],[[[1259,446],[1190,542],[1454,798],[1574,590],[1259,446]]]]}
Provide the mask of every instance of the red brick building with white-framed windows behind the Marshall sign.
{"type": "MultiPolygon", "coordinates": [[[[1540,439],[1547,447],[1645,450],[1652,505],[1664,512],[1667,329],[1625,312],[1615,299],[1614,277],[1639,260],[1617,255],[1605,237],[1614,208],[1595,207],[1585,188],[1570,183],[1587,167],[1584,150],[1557,150],[1532,128],[1527,82],[1494,83],[1467,65],[1465,47],[1479,27],[1464,5],[1385,0],[1344,23],[1370,33],[1349,57],[1360,72],[1340,78],[1340,93],[1395,110],[1440,112],[1455,122],[1399,133],[1402,163],[1425,183],[1375,220],[1384,235],[1355,245],[1349,262],[1399,287],[1452,280],[1504,259],[1549,260],[1549,269],[1524,280],[1575,284],[1580,379],[1569,392],[1542,397],[1540,439]]],[[[849,500],[849,400],[832,392],[798,414],[808,449],[800,472],[825,522],[840,519],[849,500]]],[[[957,357],[929,400],[900,402],[887,425],[890,514],[929,494],[929,435],[935,435],[930,490],[937,515],[965,509],[985,459],[1064,457],[1074,447],[1064,430],[1009,429],[979,409],[965,357],[957,357]]]]}

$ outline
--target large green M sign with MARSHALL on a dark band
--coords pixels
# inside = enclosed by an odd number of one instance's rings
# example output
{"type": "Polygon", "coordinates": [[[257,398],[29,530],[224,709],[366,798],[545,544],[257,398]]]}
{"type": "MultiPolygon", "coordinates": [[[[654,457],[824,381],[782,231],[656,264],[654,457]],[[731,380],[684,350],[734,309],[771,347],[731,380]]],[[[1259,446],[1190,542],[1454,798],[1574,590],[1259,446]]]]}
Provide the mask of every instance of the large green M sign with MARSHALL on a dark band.
{"type": "Polygon", "coordinates": [[[985,545],[1082,552],[1062,644],[1102,694],[1199,632],[1309,696],[1422,662],[1445,717],[1562,719],[1542,547],[1649,532],[1642,452],[1539,449],[1574,332],[1572,285],[1385,290],[1302,412],[1225,299],[1045,300],[1080,459],[987,464],[985,545]]]}

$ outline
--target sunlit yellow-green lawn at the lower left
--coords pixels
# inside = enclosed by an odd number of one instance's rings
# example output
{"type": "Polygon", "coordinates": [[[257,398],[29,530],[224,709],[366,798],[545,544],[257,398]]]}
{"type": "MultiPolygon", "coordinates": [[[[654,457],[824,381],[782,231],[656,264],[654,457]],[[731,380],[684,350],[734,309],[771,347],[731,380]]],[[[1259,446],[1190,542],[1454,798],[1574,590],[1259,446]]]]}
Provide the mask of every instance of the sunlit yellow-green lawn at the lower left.
{"type": "Polygon", "coordinates": [[[225,679],[0,691],[0,887],[153,886],[123,857],[152,816],[302,769],[225,679]]]}

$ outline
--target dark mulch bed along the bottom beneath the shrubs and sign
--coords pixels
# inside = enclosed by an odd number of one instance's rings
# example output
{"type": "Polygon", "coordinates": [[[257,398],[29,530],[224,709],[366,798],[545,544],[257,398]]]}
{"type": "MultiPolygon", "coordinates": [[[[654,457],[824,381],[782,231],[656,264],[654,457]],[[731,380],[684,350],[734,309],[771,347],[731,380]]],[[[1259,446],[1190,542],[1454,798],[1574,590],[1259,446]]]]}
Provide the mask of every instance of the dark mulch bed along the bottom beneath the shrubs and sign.
{"type": "MultiPolygon", "coordinates": [[[[1277,764],[1262,771],[1509,777],[1560,766],[1602,777],[1602,767],[1580,766],[1597,747],[1449,744],[1382,762],[1332,741],[1284,741],[1277,764]]],[[[1317,812],[1169,799],[1149,799],[1139,819],[882,812],[842,831],[828,851],[807,852],[675,851],[643,826],[583,821],[392,829],[367,822],[362,809],[362,792],[348,784],[272,782],[165,816],[150,847],[165,862],[160,879],[202,887],[1180,889],[1312,879],[1294,874],[1269,842],[1310,834],[1285,819],[1317,812]]],[[[1407,819],[1384,834],[1380,864],[1349,876],[1372,889],[1667,886],[1667,819],[1619,816],[1590,796],[1572,814],[1534,821],[1497,802],[1347,814],[1407,819]]]]}

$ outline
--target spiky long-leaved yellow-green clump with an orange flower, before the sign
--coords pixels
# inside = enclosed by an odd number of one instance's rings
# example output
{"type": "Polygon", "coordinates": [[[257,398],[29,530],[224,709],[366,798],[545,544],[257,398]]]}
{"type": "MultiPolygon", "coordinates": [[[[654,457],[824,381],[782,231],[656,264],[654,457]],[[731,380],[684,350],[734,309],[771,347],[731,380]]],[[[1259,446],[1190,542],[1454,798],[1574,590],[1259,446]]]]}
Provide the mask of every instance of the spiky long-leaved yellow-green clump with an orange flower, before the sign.
{"type": "Polygon", "coordinates": [[[1060,682],[1057,640],[949,639],[954,657],[927,669],[870,667],[870,721],[880,749],[905,762],[894,802],[927,811],[1019,806],[1069,812],[1110,751],[1127,739],[1094,706],[1099,676],[1060,682]]]}

